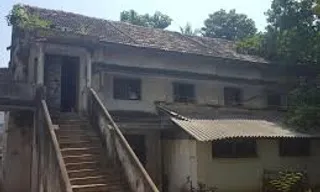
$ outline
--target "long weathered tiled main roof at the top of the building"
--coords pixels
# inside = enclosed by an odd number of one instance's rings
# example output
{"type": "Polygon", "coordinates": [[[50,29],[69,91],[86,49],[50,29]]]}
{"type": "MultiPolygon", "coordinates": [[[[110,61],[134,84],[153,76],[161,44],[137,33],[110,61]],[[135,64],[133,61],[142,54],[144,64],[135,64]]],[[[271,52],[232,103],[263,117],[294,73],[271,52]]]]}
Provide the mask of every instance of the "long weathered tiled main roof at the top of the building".
{"type": "Polygon", "coordinates": [[[40,18],[50,21],[53,29],[96,36],[103,42],[253,63],[268,63],[260,57],[237,53],[234,42],[223,39],[191,37],[178,32],[141,27],[125,22],[108,21],[27,5],[24,7],[31,14],[36,14],[40,18]]]}

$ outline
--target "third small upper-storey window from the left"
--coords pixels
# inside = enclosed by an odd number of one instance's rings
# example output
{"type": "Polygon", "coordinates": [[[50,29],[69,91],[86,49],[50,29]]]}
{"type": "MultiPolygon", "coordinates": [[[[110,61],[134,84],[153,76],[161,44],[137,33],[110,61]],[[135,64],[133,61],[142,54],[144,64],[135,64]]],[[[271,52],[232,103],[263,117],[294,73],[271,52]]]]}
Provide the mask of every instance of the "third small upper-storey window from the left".
{"type": "Polygon", "coordinates": [[[224,88],[224,104],[227,106],[242,105],[242,90],[239,88],[224,88]]]}

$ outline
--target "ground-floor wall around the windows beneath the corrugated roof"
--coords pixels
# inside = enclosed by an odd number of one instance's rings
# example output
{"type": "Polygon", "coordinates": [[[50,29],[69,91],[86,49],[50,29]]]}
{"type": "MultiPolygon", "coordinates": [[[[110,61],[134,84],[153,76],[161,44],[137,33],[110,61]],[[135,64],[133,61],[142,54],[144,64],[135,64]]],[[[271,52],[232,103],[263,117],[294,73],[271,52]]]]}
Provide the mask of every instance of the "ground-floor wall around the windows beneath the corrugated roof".
{"type": "Polygon", "coordinates": [[[219,192],[257,192],[264,169],[308,171],[311,184],[320,184],[320,140],[311,141],[311,156],[280,157],[278,140],[258,140],[257,158],[212,158],[211,142],[197,143],[198,181],[219,192]]]}

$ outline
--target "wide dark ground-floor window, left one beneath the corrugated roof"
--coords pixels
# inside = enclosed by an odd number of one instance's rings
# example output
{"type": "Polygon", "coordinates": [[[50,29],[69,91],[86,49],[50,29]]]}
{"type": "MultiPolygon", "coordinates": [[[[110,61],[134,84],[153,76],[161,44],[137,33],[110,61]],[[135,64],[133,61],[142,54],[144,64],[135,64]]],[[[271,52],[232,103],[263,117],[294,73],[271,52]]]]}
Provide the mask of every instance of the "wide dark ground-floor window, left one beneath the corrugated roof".
{"type": "Polygon", "coordinates": [[[256,157],[256,141],[253,139],[214,141],[212,142],[212,156],[218,158],[256,157]]]}

